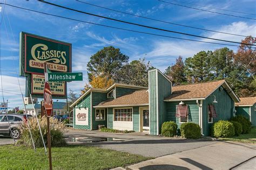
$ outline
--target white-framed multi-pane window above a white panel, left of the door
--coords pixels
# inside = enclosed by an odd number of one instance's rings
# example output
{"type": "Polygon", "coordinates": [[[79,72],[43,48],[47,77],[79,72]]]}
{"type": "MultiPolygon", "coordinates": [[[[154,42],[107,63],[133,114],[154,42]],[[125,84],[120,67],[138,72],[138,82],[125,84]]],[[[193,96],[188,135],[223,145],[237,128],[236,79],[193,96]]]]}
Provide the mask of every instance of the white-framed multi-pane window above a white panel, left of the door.
{"type": "Polygon", "coordinates": [[[114,121],[132,122],[132,108],[114,109],[114,121]]]}

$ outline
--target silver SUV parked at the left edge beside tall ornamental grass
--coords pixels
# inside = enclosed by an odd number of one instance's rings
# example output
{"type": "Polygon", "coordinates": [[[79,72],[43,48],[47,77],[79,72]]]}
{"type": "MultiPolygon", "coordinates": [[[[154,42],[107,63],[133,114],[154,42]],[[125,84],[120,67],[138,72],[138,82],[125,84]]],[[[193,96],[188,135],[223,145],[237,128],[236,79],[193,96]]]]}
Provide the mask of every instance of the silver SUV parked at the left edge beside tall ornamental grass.
{"type": "MultiPolygon", "coordinates": [[[[27,122],[26,115],[23,114],[8,114],[6,115],[0,115],[0,134],[5,136],[11,136],[14,139],[18,139],[21,137],[21,132],[18,130],[18,126],[22,124],[23,122],[27,122]],[[8,119],[9,123],[8,123],[8,119]],[[10,129],[11,127],[11,129],[10,129]]],[[[31,115],[28,115],[28,118],[32,117],[31,115]]]]}

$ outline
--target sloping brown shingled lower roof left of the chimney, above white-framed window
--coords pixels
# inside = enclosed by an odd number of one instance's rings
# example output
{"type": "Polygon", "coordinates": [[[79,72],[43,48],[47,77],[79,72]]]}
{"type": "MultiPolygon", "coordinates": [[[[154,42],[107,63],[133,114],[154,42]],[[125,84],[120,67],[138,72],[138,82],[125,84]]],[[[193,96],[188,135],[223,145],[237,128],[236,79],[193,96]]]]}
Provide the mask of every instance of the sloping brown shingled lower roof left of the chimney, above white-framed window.
{"type": "Polygon", "coordinates": [[[136,90],[118,98],[106,100],[93,108],[128,107],[135,105],[149,105],[148,90],[136,90]]]}

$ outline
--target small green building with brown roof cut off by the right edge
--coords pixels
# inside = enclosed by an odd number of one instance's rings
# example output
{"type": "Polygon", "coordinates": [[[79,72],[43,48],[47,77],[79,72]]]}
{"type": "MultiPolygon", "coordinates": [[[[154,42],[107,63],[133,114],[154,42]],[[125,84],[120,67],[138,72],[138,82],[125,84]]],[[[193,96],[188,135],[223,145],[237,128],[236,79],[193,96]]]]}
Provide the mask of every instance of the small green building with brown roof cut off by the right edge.
{"type": "Polygon", "coordinates": [[[240,97],[240,102],[235,103],[236,115],[245,116],[256,126],[256,97],[240,97]]]}

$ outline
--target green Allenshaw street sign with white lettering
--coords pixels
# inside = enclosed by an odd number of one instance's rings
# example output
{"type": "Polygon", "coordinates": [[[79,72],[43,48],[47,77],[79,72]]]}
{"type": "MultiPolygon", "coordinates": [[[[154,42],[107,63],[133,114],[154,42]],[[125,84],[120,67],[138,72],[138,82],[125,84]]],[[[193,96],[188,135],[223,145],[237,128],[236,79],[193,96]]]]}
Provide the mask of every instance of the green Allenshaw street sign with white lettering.
{"type": "Polygon", "coordinates": [[[48,81],[83,81],[83,73],[48,73],[48,81]]]}

